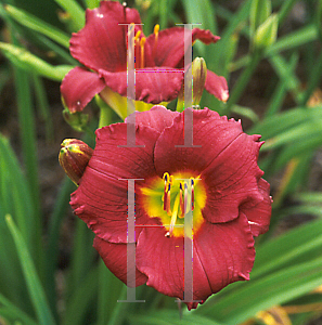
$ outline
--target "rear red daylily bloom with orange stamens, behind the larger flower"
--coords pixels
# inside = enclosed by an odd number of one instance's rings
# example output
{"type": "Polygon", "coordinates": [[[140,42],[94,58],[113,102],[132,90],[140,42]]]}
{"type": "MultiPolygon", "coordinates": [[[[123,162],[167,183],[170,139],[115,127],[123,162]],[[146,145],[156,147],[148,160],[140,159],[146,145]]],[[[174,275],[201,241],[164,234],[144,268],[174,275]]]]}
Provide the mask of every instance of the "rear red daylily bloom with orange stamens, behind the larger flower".
{"type": "MultiPolygon", "coordinates": [[[[87,10],[86,26],[70,39],[70,53],[85,67],[73,68],[61,86],[72,113],[82,110],[98,93],[111,106],[117,106],[119,95],[127,96],[128,26],[119,24],[130,23],[141,24],[139,12],[117,1],[101,1],[100,8],[87,10]]],[[[146,38],[142,26],[136,25],[134,31],[137,101],[159,104],[175,100],[183,82],[184,28],[155,28],[146,38]]],[[[197,39],[209,44],[219,37],[194,28],[192,41],[197,39]]],[[[205,88],[219,100],[228,100],[226,79],[210,70],[205,88]]]]}

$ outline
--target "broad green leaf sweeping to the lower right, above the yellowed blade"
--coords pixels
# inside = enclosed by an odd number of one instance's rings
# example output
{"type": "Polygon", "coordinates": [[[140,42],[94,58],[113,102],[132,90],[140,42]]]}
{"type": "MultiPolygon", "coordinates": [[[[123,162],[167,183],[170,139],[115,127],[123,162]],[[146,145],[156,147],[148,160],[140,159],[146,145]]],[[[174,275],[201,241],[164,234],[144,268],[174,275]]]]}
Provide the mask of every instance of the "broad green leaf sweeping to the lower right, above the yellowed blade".
{"type": "MultiPolygon", "coordinates": [[[[195,313],[235,325],[254,317],[257,312],[298,298],[322,282],[322,259],[315,259],[274,272],[240,286],[231,295],[201,306],[195,313]],[[216,302],[215,302],[216,301],[216,302]]],[[[215,296],[216,297],[216,296],[215,296]]]]}

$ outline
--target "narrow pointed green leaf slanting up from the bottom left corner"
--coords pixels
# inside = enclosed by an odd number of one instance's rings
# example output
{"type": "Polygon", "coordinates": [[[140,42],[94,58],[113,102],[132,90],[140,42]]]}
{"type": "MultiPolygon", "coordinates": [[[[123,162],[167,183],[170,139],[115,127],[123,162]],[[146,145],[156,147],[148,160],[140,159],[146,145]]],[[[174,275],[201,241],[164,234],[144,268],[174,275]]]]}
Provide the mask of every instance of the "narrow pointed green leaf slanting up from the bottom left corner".
{"type": "Polygon", "coordinates": [[[40,324],[54,325],[55,322],[53,315],[49,309],[43,288],[36,272],[36,268],[34,265],[29,251],[26,248],[26,243],[10,214],[5,216],[5,221],[16,246],[25,281],[34,303],[38,321],[40,322],[40,324]]]}

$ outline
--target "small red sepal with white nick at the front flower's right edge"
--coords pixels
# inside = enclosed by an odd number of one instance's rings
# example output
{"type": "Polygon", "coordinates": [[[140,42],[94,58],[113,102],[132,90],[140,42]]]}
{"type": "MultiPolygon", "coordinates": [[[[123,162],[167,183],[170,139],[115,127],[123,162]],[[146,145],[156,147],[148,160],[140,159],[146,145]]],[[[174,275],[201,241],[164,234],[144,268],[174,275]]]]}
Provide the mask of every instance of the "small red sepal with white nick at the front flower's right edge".
{"type": "Polygon", "coordinates": [[[240,207],[240,211],[245,213],[248,219],[253,236],[265,234],[269,230],[272,212],[270,184],[266,180],[260,179],[258,188],[263,199],[256,205],[246,203],[240,207]]]}

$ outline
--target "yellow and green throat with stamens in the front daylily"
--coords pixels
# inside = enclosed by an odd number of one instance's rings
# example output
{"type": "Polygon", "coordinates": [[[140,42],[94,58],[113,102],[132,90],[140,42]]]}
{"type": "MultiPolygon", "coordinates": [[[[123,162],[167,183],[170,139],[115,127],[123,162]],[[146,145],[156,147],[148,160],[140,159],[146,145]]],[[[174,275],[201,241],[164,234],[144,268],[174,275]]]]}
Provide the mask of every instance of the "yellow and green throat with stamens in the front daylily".
{"type": "Polygon", "coordinates": [[[159,218],[166,227],[166,236],[184,236],[184,217],[193,216],[193,233],[204,222],[202,209],[206,205],[206,190],[198,176],[189,172],[154,178],[141,187],[142,204],[151,218],[159,218]]]}

